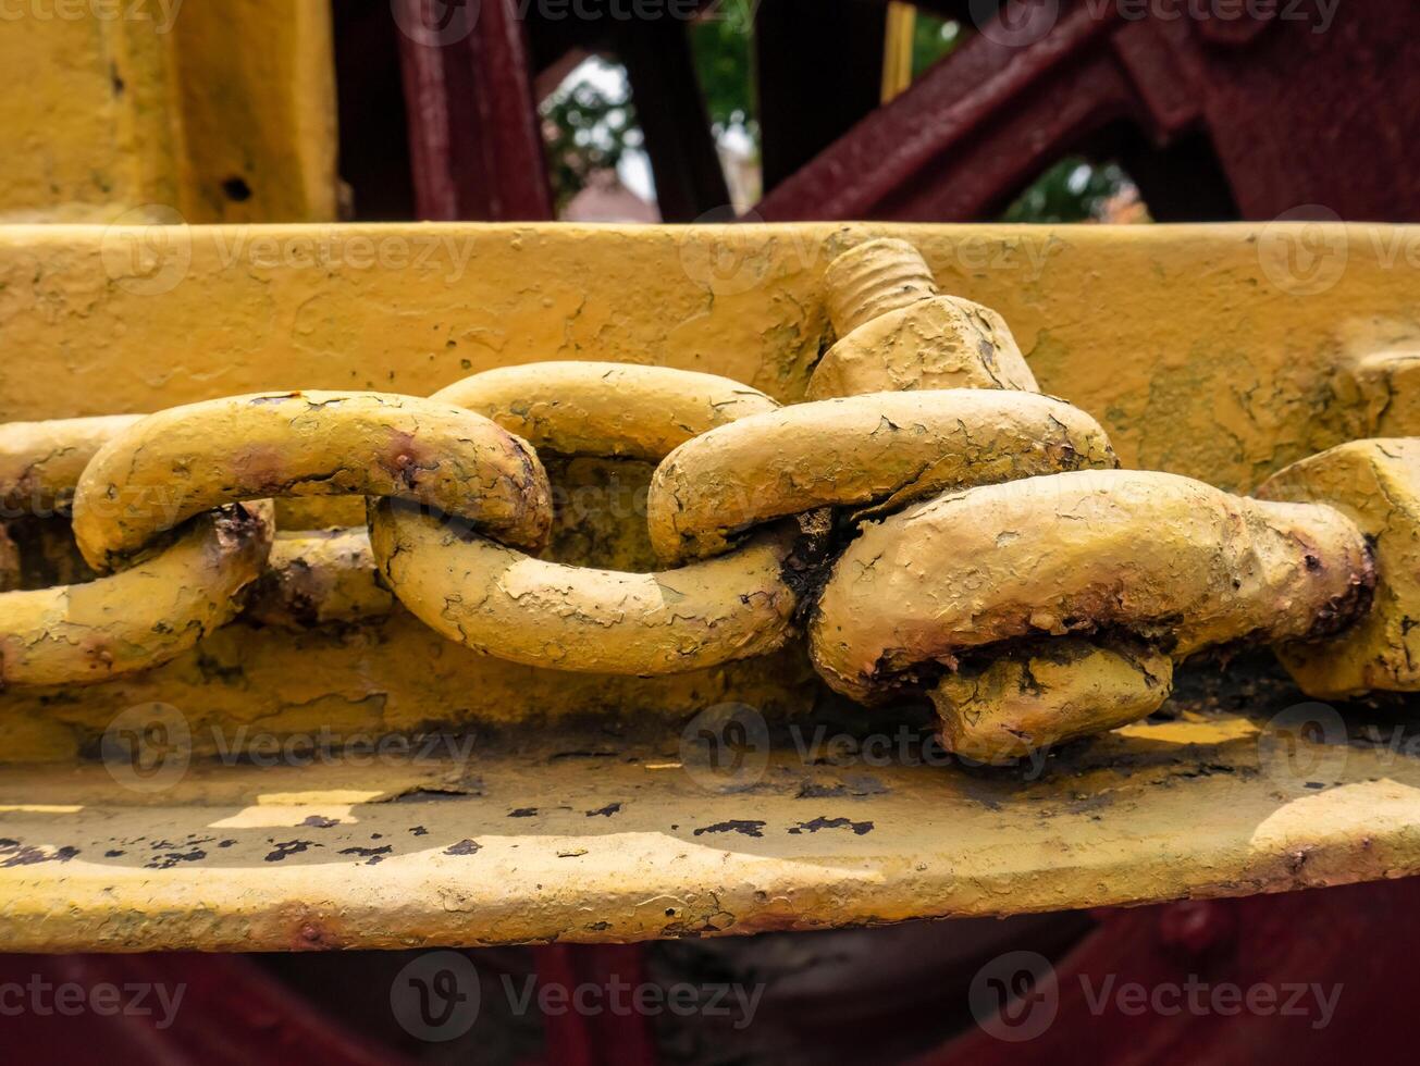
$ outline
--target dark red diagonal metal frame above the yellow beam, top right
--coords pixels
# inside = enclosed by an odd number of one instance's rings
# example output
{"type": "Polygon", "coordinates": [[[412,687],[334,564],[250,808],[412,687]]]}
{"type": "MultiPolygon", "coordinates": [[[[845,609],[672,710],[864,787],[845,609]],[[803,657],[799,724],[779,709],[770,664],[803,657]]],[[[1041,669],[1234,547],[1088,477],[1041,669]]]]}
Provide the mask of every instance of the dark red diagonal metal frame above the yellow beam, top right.
{"type": "Polygon", "coordinates": [[[1197,6],[1180,0],[1153,0],[1143,18],[1122,17],[1120,3],[1061,7],[1054,28],[1030,44],[988,24],[754,214],[980,219],[1061,155],[1127,128],[1154,149],[1206,136],[1245,219],[1298,204],[1343,219],[1420,219],[1414,4],[1352,0],[1325,33],[1315,31],[1318,11],[1312,21],[1200,21],[1186,10],[1197,6]]]}

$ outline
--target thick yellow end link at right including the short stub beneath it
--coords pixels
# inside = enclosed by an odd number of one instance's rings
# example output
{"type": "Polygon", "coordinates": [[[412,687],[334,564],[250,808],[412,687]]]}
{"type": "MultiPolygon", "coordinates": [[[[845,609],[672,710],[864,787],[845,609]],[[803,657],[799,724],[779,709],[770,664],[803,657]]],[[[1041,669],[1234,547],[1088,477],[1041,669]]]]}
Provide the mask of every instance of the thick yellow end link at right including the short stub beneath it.
{"type": "MultiPolygon", "coordinates": [[[[853,698],[1014,659],[1004,677],[987,666],[984,684],[958,678],[939,700],[954,749],[997,762],[1154,711],[1169,671],[1152,647],[1181,660],[1244,640],[1315,640],[1312,654],[1326,656],[1321,642],[1366,616],[1375,582],[1362,529],[1331,507],[1086,470],[940,495],[868,527],[834,564],[809,647],[853,698]],[[1091,661],[1095,633],[1135,647],[1091,661]],[[1052,637],[1072,634],[1052,663],[1052,637]],[[1025,661],[1054,669],[1037,677],[1025,661]],[[1082,676],[1051,677],[1072,671],[1082,676]]],[[[1392,680],[1377,687],[1413,686],[1392,680]]]]}

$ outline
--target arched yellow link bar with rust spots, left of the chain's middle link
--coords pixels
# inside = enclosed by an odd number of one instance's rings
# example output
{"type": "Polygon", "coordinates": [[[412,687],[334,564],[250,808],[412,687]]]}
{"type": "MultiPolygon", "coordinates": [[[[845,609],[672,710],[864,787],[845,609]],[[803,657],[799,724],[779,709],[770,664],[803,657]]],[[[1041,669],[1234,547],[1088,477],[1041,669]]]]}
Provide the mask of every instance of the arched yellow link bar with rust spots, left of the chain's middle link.
{"type": "Polygon", "coordinates": [[[413,396],[290,392],[129,426],[80,477],[74,537],[108,569],[210,507],[278,495],[399,495],[532,548],[552,525],[537,454],[483,416],[413,396]]]}

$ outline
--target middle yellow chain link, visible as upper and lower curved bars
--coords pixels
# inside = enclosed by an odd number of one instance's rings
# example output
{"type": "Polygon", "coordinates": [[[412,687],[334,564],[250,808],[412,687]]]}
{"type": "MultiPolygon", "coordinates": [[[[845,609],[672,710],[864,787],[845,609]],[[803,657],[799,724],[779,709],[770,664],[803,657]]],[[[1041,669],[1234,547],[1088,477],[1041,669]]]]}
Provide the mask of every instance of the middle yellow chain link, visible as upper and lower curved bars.
{"type": "MultiPolygon", "coordinates": [[[[609,363],[534,363],[442,390],[558,454],[662,458],[778,405],[724,378],[609,363]]],[[[816,538],[794,522],[734,555],[657,573],[541,561],[393,502],[371,542],[395,595],[450,640],[558,670],[666,674],[765,654],[792,632],[816,538]]]]}

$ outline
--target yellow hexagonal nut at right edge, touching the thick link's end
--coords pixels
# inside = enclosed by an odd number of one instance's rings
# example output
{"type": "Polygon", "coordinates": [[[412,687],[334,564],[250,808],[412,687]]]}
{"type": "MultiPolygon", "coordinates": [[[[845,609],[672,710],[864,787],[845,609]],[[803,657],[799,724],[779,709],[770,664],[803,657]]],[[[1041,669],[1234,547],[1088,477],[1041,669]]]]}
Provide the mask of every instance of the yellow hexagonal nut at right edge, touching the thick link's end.
{"type": "Polygon", "coordinates": [[[1255,495],[1328,504],[1375,554],[1370,610],[1332,640],[1277,649],[1302,691],[1333,698],[1420,690],[1420,439],[1339,444],[1278,471],[1255,495]]]}

